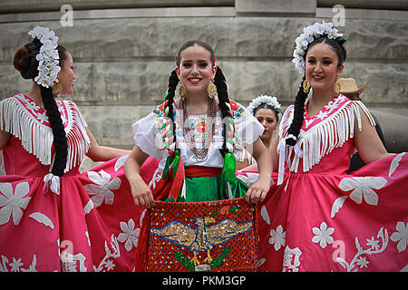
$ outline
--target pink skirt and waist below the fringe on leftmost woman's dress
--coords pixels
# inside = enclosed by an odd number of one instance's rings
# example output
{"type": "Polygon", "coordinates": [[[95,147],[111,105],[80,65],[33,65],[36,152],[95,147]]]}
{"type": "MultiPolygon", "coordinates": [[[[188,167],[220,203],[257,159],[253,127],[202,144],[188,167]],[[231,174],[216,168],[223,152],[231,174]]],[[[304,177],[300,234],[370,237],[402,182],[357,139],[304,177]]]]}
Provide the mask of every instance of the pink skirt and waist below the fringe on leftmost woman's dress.
{"type": "MultiPolygon", "coordinates": [[[[134,205],[126,156],[61,178],[44,192],[49,165],[12,137],[0,177],[0,271],[131,271],[145,208],[134,205]]],[[[157,162],[141,168],[151,179],[157,162]]]]}

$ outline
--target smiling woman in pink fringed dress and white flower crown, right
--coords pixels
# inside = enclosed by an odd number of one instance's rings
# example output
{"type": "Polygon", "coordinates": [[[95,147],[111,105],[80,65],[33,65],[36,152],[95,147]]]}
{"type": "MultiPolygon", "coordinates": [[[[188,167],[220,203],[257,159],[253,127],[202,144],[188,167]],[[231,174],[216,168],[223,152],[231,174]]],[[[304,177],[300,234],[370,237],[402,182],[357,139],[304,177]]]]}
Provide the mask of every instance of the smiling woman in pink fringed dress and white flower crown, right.
{"type": "Polygon", "coordinates": [[[260,271],[407,270],[408,155],[388,153],[364,104],[340,93],[344,43],[325,22],[296,38],[304,77],[270,147],[260,271]],[[347,174],[355,150],[367,165],[347,174]]]}

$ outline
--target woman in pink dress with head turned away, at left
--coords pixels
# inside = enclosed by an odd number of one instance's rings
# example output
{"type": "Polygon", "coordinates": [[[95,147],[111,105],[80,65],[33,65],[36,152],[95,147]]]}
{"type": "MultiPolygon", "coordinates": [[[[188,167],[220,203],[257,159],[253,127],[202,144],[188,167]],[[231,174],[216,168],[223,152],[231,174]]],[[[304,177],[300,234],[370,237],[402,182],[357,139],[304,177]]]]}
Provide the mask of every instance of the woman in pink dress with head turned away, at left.
{"type": "Polygon", "coordinates": [[[130,151],[98,145],[76,104],[55,100],[73,94],[73,57],[46,27],[29,35],[14,65],[33,87],[0,102],[0,271],[131,271],[130,151]],[[110,161],[81,174],[85,155],[110,161]]]}

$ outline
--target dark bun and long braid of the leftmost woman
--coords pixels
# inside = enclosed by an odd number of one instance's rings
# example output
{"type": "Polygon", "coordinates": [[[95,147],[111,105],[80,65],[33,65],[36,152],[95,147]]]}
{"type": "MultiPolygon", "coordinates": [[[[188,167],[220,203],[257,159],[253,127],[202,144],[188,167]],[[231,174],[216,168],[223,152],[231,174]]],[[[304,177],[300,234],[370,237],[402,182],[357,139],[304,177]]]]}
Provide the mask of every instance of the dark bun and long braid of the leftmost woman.
{"type": "MultiPolygon", "coordinates": [[[[21,76],[26,80],[32,79],[34,81],[34,78],[38,75],[38,61],[35,57],[40,52],[41,45],[42,43],[37,38],[34,38],[31,43],[20,47],[15,53],[15,69],[19,71],[21,76]]],[[[62,45],[58,45],[56,49],[60,57],[59,65],[63,68],[64,62],[67,59],[67,50],[62,45]]],[[[63,128],[63,120],[61,119],[60,111],[58,111],[58,106],[53,97],[53,89],[45,88],[40,85],[40,92],[48,121],[50,121],[50,126],[53,130],[55,158],[53,160],[52,173],[53,175],[62,177],[68,155],[68,145],[63,128]]]]}

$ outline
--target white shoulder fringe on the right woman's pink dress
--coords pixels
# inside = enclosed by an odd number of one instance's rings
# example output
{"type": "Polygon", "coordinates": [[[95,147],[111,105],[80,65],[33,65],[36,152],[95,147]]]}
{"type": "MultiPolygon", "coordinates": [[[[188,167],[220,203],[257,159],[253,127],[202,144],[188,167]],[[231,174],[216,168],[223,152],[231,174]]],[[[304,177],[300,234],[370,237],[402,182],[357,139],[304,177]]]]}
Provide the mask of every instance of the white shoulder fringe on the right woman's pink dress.
{"type": "MultiPolygon", "coordinates": [[[[371,125],[375,126],[374,118],[363,102],[348,101],[342,105],[342,108],[339,108],[310,130],[306,132],[300,131],[297,145],[303,150],[303,172],[312,169],[326,154],[329,154],[335,148],[343,146],[346,140],[353,138],[355,134],[355,120],[357,121],[358,130],[362,131],[359,109],[364,111],[371,125]]],[[[293,118],[293,109],[287,113],[287,117],[290,121],[286,122],[286,126],[283,125],[281,127],[283,136],[287,135],[287,130],[293,118]]],[[[300,157],[293,154],[293,148],[290,147],[287,152],[287,160],[291,160],[292,155],[293,160],[290,164],[290,171],[297,172],[300,157]]]]}

